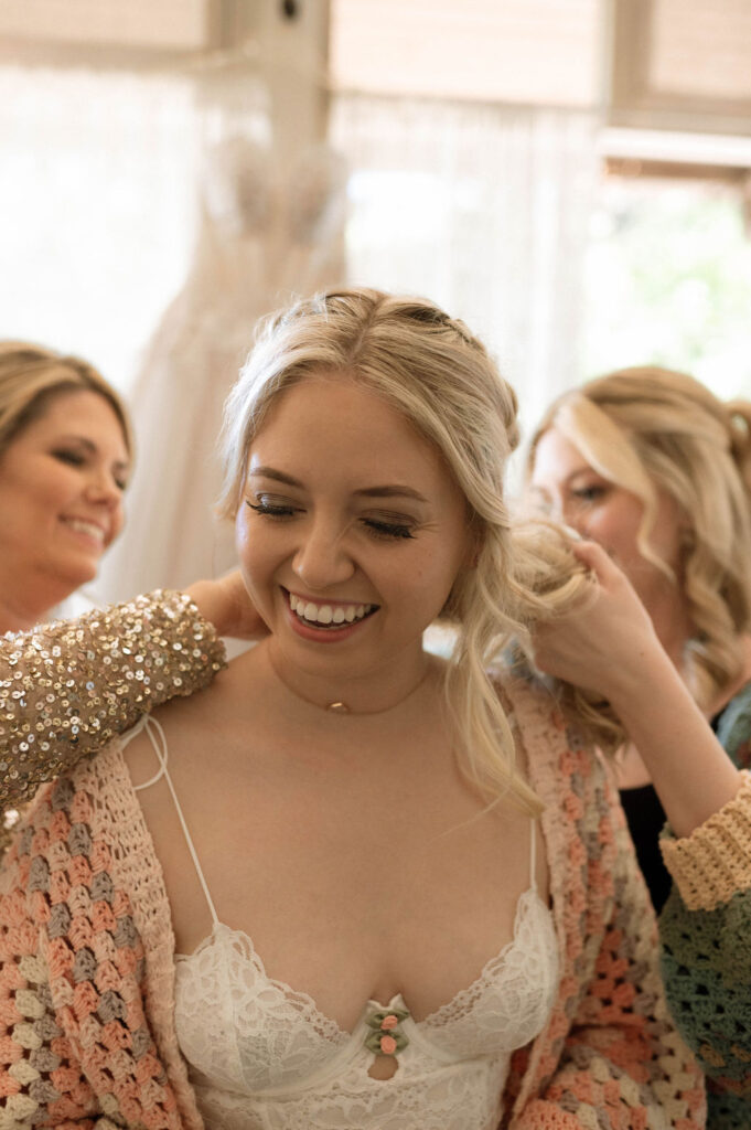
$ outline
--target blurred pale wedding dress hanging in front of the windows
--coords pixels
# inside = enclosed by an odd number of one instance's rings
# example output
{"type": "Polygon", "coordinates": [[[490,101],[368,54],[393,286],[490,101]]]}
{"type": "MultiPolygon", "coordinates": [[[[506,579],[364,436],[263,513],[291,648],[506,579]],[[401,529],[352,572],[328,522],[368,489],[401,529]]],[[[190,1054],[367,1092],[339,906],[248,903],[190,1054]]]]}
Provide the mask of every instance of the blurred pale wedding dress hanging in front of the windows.
{"type": "Polygon", "coordinates": [[[233,530],[212,513],[225,397],[259,316],[341,278],[341,159],[320,146],[279,166],[272,148],[242,136],[208,154],[193,267],[132,393],[137,468],[103,599],[182,588],[234,564],[233,530]]]}

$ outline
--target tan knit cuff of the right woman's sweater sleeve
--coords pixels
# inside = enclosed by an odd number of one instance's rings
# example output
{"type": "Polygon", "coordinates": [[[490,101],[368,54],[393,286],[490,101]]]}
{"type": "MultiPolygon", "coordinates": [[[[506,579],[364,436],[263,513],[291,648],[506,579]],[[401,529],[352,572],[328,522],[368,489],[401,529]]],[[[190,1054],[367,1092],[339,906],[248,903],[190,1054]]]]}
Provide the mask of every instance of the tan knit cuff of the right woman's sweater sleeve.
{"type": "Polygon", "coordinates": [[[665,867],[690,911],[715,910],[751,888],[751,773],[741,775],[737,796],[690,836],[661,840],[665,867]]]}

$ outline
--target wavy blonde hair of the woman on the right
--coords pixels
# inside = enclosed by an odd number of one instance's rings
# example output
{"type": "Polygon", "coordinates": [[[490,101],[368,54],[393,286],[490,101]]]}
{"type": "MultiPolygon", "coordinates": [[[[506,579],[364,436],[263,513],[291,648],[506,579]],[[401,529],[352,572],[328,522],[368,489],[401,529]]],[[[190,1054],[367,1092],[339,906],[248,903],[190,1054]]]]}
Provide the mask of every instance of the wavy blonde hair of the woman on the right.
{"type": "Polygon", "coordinates": [[[532,440],[529,470],[553,426],[644,504],[639,550],[682,585],[693,625],[685,675],[707,707],[737,678],[741,636],[751,626],[751,403],[725,403],[685,373],[619,370],[551,405],[532,440]],[[657,492],[680,510],[680,579],[649,544],[657,492]]]}

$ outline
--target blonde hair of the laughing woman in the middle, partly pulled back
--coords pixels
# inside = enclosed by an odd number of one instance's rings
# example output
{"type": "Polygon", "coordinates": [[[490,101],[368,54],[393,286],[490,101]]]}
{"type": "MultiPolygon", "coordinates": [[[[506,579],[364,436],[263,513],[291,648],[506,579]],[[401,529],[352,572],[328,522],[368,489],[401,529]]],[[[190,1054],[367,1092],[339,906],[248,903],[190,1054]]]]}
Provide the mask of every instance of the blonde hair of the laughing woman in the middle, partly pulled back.
{"type": "Polygon", "coordinates": [[[466,499],[477,564],[463,571],[444,616],[459,638],[448,694],[468,780],[541,808],[514,764],[514,740],[489,667],[531,624],[568,610],[585,574],[550,523],[512,532],[504,470],[518,441],[516,397],[466,327],[422,298],[366,288],[331,290],[270,316],[229,394],[219,507],[234,516],[247,459],[276,399],[311,374],[343,373],[383,397],[442,453],[466,499]]]}

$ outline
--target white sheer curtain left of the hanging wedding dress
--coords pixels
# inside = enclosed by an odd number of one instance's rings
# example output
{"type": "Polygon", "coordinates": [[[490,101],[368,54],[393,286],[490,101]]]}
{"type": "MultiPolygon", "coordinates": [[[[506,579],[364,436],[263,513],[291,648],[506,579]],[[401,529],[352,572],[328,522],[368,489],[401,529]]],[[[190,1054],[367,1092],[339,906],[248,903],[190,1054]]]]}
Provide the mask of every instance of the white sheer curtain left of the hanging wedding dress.
{"type": "Polygon", "coordinates": [[[199,141],[186,77],[0,67],[0,337],[125,391],[190,259],[199,141]]]}

